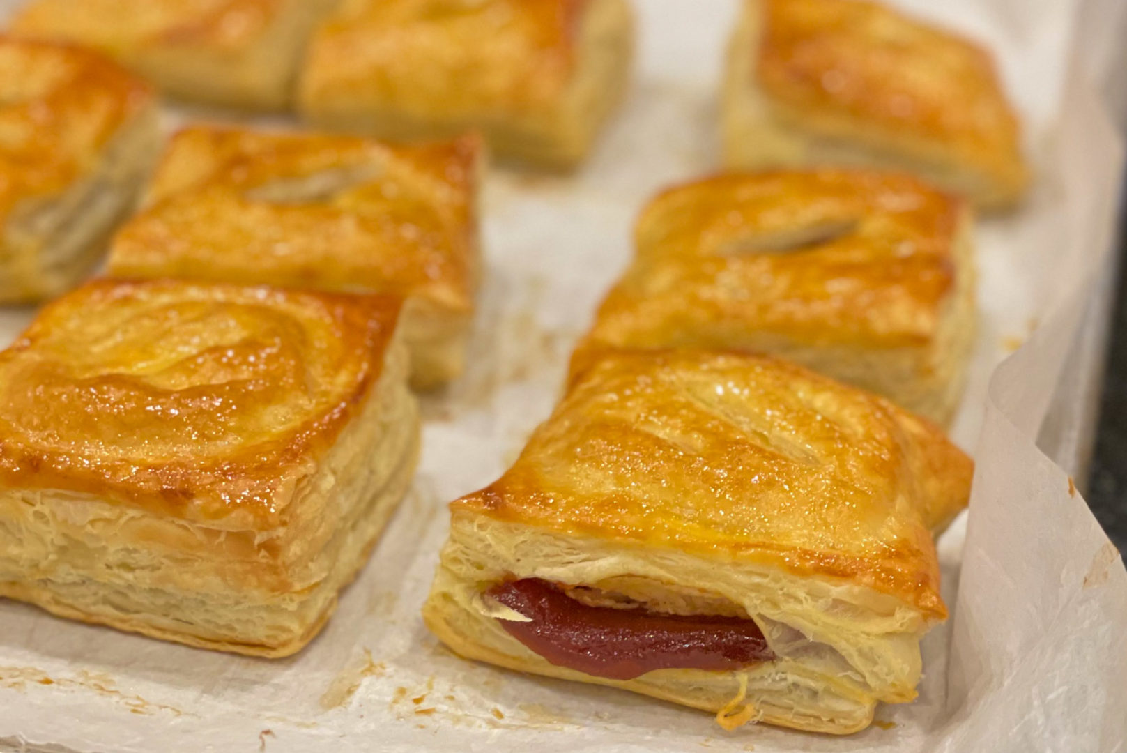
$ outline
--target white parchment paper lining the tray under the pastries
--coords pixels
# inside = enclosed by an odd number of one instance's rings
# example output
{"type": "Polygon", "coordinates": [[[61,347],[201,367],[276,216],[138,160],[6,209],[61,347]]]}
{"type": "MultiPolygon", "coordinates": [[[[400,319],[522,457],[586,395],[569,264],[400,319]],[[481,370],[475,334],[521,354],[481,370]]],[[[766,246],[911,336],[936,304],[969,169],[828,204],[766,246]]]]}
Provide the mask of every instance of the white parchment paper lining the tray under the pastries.
{"type": "MultiPolygon", "coordinates": [[[[415,487],[325,632],[299,656],[252,659],[2,602],[0,750],[1127,751],[1127,573],[1072,469],[1035,443],[1051,406],[1090,398],[1068,390],[1090,390],[1074,386],[1098,365],[1077,354],[1099,352],[1092,307],[1111,269],[1121,0],[902,2],[996,52],[1038,171],[1020,213],[979,227],[982,331],[953,428],[977,473],[969,515],[940,544],[953,615],[924,643],[915,703],[879,708],[877,725],[848,738],[725,733],[709,715],[631,693],[463,662],[423,628],[445,503],[492,480],[548,415],[570,345],[629,258],[641,204],[717,168],[735,2],[635,5],[638,74],[591,163],[567,178],[489,177],[473,365],[427,398],[415,487]]],[[[0,338],[30,315],[0,312],[0,338]]],[[[1091,426],[1083,410],[1061,415],[1067,441],[1055,452],[1071,463],[1091,426]]]]}

